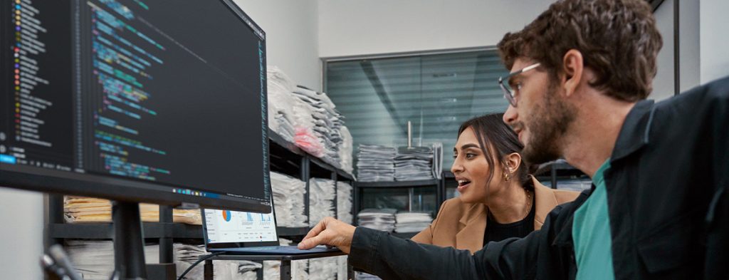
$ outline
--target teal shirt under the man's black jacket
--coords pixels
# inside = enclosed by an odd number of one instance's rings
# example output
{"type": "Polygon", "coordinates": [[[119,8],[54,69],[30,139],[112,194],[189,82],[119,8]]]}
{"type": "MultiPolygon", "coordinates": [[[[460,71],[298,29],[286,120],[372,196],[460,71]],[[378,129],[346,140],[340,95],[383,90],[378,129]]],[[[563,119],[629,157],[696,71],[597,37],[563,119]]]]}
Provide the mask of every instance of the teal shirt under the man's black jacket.
{"type": "Polygon", "coordinates": [[[592,178],[595,190],[590,198],[574,211],[572,240],[578,280],[615,279],[607,190],[603,176],[609,168],[610,161],[606,160],[592,178]]]}

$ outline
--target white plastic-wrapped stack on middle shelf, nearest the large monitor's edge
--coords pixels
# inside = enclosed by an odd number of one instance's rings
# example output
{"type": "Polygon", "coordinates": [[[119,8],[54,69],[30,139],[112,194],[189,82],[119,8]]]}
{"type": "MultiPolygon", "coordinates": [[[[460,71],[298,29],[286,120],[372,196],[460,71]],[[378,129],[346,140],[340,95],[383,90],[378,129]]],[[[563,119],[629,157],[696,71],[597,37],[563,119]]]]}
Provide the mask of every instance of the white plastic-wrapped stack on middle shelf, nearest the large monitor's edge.
{"type": "Polygon", "coordinates": [[[289,228],[308,226],[304,214],[306,183],[273,171],[270,172],[270,179],[278,226],[289,228]]]}

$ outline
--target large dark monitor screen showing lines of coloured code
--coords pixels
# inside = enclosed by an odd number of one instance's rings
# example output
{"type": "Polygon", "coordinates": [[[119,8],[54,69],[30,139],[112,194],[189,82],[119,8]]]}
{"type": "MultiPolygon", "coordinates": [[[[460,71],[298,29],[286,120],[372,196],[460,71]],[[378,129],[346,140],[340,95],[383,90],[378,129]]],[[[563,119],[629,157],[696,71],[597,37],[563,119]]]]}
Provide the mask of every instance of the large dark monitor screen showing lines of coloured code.
{"type": "Polygon", "coordinates": [[[231,1],[0,15],[0,186],[270,212],[265,34],[231,1]]]}

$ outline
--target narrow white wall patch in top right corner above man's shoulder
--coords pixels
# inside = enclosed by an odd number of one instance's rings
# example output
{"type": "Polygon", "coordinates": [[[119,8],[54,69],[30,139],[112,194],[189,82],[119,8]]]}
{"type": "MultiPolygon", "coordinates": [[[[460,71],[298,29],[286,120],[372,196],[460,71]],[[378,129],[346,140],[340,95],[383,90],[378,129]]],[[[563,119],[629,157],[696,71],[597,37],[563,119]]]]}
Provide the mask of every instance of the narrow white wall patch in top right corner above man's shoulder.
{"type": "Polygon", "coordinates": [[[701,0],[701,83],[729,75],[729,1],[701,0]]]}

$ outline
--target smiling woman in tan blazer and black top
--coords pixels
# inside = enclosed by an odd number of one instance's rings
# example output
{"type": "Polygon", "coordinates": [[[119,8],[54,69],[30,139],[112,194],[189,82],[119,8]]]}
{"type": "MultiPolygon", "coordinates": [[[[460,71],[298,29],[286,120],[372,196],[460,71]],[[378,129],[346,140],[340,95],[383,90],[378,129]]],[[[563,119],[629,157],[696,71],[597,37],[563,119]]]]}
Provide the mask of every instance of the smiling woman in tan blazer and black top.
{"type": "Polygon", "coordinates": [[[502,115],[461,125],[451,167],[461,195],[443,202],[429,228],[413,241],[473,253],[489,241],[539,230],[555,206],[577,198],[577,192],[552,190],[529,175],[519,155],[523,145],[502,115]]]}

